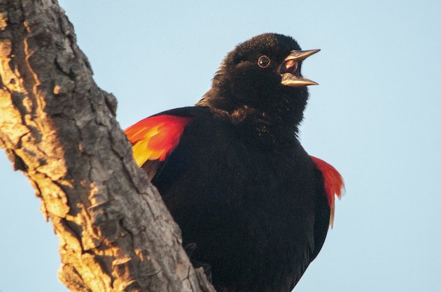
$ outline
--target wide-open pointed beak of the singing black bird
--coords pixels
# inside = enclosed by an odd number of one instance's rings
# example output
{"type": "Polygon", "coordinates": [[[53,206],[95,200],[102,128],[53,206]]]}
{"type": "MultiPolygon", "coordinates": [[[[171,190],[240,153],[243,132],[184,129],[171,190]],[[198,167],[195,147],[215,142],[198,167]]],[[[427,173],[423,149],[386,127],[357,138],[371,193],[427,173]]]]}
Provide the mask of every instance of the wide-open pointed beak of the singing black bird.
{"type": "Polygon", "coordinates": [[[320,50],[291,51],[279,68],[279,73],[282,77],[281,84],[290,87],[318,85],[318,83],[312,80],[300,77],[298,69],[301,61],[319,51],[320,50]]]}

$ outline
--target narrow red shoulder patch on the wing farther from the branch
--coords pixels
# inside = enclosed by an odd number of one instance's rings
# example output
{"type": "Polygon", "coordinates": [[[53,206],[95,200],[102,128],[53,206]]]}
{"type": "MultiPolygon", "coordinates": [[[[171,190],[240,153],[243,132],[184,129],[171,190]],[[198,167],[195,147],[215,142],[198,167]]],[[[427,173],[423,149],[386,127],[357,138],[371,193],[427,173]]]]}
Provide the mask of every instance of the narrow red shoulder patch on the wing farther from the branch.
{"type": "Polygon", "coordinates": [[[328,197],[328,204],[331,211],[329,225],[332,227],[334,224],[335,196],[337,196],[339,199],[342,198],[344,191],[343,177],[329,163],[326,163],[325,161],[314,156],[311,156],[311,159],[314,161],[318,170],[320,170],[321,174],[323,175],[325,192],[326,196],[328,197]]]}

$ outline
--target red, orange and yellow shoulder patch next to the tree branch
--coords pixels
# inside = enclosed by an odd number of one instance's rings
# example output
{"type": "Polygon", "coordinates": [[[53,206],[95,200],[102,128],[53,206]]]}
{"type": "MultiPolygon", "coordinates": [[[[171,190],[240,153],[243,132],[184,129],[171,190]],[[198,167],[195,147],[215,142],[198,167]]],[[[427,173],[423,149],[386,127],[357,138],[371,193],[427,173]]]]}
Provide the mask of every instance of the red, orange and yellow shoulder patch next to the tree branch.
{"type": "Polygon", "coordinates": [[[133,156],[139,167],[148,160],[164,161],[174,148],[191,117],[157,115],[137,122],[125,130],[133,146],[133,156]]]}

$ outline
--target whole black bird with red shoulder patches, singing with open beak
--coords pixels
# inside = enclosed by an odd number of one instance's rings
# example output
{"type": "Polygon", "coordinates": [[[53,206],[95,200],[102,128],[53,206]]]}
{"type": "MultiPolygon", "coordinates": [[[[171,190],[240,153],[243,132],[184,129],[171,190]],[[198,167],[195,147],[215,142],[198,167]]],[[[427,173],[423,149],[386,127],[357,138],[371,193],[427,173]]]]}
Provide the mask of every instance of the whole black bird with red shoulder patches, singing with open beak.
{"type": "Polygon", "coordinates": [[[126,130],[218,291],[291,291],[320,251],[342,177],[297,140],[307,105],[300,50],[262,34],[228,53],[195,106],[126,130]]]}

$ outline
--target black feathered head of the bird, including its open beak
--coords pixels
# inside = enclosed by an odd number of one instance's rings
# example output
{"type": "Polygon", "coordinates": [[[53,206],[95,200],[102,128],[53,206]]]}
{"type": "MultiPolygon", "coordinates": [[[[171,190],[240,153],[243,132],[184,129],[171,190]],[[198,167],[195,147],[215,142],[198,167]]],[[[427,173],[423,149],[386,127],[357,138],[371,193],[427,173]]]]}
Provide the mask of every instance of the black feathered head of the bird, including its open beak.
{"type": "Polygon", "coordinates": [[[255,36],[227,54],[199,104],[228,112],[250,108],[298,124],[307,85],[317,84],[302,77],[302,61],[318,51],[302,51],[293,38],[281,34],[255,36]]]}

